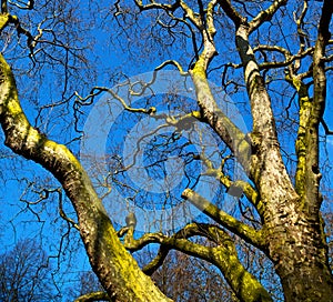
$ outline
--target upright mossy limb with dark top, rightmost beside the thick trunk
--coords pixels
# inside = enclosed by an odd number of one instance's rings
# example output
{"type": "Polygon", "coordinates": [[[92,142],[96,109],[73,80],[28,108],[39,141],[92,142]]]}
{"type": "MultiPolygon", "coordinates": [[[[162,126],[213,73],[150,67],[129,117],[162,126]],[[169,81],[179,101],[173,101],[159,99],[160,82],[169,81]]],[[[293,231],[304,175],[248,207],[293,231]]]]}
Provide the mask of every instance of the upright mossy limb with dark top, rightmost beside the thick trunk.
{"type": "MultiPolygon", "coordinates": [[[[295,188],[303,207],[309,213],[315,215],[322,202],[319,191],[322,178],[319,168],[319,124],[323,121],[326,102],[326,74],[323,58],[331,37],[329,29],[332,13],[332,3],[324,1],[313,51],[313,64],[310,68],[313,78],[313,98],[309,95],[309,84],[304,84],[297,77],[292,77],[291,80],[300,95],[300,127],[295,144],[297,154],[295,188]]],[[[324,125],[323,122],[322,124],[324,125]]]]}

